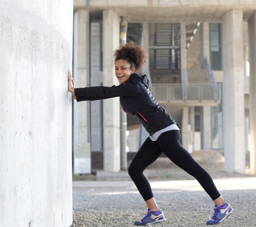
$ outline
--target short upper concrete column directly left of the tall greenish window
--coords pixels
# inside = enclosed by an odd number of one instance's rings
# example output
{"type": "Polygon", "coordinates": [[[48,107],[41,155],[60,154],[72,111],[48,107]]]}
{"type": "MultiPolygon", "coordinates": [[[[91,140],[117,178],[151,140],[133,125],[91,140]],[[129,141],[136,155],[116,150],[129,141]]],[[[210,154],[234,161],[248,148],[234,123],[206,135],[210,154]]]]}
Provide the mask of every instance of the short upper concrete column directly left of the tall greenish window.
{"type": "Polygon", "coordinates": [[[210,64],[210,26],[209,23],[200,24],[200,39],[201,39],[201,69],[204,69],[204,58],[208,59],[210,64]]]}

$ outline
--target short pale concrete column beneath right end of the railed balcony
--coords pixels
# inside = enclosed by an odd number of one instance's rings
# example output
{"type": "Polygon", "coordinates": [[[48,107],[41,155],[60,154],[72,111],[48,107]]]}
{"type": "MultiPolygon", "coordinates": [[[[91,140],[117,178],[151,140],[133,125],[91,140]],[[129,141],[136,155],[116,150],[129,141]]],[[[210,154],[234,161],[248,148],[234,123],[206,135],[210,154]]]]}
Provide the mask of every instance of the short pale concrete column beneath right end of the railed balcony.
{"type": "Polygon", "coordinates": [[[211,133],[211,107],[200,107],[200,135],[201,135],[201,149],[212,149],[212,133],[211,133]]]}

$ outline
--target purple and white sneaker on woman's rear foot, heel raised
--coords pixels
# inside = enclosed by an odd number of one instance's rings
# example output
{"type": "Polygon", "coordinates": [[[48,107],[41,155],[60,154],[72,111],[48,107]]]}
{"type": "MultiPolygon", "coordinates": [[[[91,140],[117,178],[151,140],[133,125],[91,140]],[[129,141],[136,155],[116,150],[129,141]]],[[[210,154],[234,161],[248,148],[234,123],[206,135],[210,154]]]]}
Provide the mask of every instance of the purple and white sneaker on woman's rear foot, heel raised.
{"type": "Polygon", "coordinates": [[[234,209],[228,204],[227,201],[221,206],[214,205],[214,214],[210,220],[206,222],[206,225],[216,225],[221,223],[225,218],[233,213],[234,209]]]}

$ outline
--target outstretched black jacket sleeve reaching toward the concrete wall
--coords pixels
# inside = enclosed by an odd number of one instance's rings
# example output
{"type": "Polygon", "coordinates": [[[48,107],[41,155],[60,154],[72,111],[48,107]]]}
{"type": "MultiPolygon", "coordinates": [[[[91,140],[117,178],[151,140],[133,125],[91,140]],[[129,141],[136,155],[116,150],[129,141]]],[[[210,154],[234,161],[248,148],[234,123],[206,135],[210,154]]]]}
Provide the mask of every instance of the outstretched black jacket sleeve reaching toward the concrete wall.
{"type": "Polygon", "coordinates": [[[114,85],[112,87],[98,86],[75,88],[74,94],[77,96],[77,102],[109,99],[121,96],[134,97],[137,95],[137,85],[134,83],[127,83],[119,86],[114,85]]]}

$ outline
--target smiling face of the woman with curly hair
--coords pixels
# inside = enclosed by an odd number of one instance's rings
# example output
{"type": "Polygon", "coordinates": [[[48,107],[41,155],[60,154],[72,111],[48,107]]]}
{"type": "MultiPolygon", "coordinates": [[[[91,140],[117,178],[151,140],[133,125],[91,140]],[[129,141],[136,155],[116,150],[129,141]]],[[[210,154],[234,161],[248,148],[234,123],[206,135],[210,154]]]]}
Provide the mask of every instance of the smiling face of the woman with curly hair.
{"type": "Polygon", "coordinates": [[[130,79],[131,74],[135,72],[135,68],[131,68],[131,64],[125,59],[119,59],[115,64],[115,74],[116,78],[120,83],[125,84],[128,79],[130,79]]]}

